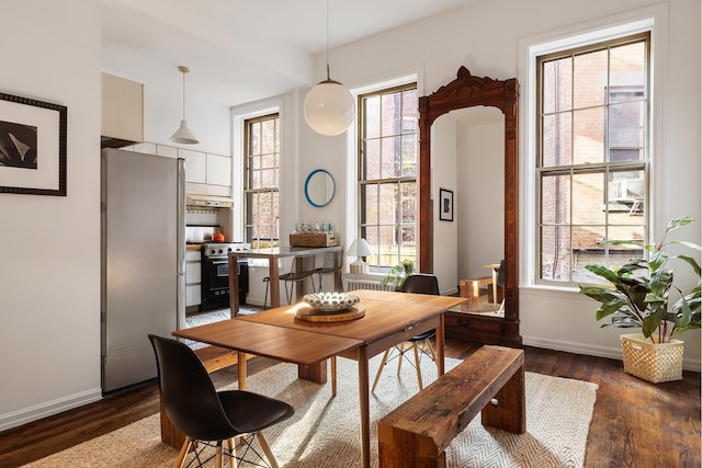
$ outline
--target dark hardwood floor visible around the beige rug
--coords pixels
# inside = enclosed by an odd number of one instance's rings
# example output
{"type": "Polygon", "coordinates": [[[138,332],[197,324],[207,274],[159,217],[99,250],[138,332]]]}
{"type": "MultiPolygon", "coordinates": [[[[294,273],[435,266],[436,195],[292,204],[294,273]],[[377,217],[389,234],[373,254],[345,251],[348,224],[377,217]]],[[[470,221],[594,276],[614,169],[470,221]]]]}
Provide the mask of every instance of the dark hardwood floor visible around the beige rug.
{"type": "MultiPolygon", "coordinates": [[[[475,343],[446,340],[446,356],[466,358],[475,343]]],[[[625,374],[620,361],[524,349],[528,372],[597,384],[586,467],[700,467],[700,374],[648,384],[625,374]]],[[[274,362],[249,361],[249,373],[274,362]]],[[[216,385],[236,379],[236,366],[212,374],[216,385]]],[[[158,412],[148,383],[82,408],[0,433],[0,467],[16,467],[158,412]]]]}

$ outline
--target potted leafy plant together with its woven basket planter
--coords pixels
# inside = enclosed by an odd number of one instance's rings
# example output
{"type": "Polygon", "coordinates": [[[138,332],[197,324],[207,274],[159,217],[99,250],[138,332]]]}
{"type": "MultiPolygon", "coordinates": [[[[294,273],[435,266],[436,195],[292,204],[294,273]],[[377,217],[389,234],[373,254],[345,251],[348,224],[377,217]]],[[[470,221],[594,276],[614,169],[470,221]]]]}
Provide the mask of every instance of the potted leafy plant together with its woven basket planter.
{"type": "MultiPolygon", "coordinates": [[[[607,279],[607,286],[580,285],[580,294],[600,303],[597,320],[610,318],[602,328],[641,328],[642,333],[623,334],[622,350],[624,372],[653,383],[682,378],[683,342],[673,334],[700,328],[700,286],[682,292],[673,282],[673,270],[668,261],[687,262],[698,276],[700,265],[689,255],[669,255],[666,248],[680,244],[701,251],[700,246],[669,240],[675,229],[689,225],[693,219],[682,217],[668,222],[664,238],[658,243],[645,246],[648,259],[632,259],[619,269],[587,265],[586,269],[607,279]],[[671,289],[679,298],[671,303],[671,289]]],[[[637,244],[635,241],[610,240],[601,244],[637,244]]]]}

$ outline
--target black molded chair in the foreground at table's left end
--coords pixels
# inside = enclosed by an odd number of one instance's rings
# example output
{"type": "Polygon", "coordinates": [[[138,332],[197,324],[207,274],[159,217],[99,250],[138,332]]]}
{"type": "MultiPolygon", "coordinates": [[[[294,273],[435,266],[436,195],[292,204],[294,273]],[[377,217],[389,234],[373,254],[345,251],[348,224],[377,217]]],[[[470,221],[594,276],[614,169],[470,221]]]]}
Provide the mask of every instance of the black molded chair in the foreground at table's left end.
{"type": "Polygon", "coordinates": [[[236,460],[242,458],[237,457],[235,440],[263,460],[251,446],[254,436],[270,465],[278,467],[261,431],[292,416],[293,407],[250,391],[217,391],[205,366],[186,344],[154,334],[149,334],[149,340],[156,354],[163,408],[171,423],[185,435],[176,467],[183,466],[191,446],[195,448],[192,461],[196,460],[197,466],[212,458],[201,459],[202,452],[207,446],[215,447],[215,464],[220,467],[224,441],[228,445],[229,465],[236,466],[236,460]]]}

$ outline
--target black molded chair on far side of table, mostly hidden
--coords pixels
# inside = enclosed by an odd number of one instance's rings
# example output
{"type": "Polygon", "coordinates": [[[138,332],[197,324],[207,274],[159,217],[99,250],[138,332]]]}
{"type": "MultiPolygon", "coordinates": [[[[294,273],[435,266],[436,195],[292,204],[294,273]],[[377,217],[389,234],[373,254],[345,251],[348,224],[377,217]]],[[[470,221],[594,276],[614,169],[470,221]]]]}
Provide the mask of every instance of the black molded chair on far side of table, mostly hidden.
{"type": "MultiPolygon", "coordinates": [[[[439,281],[434,275],[430,275],[426,273],[415,273],[407,276],[407,278],[405,278],[405,282],[403,283],[403,287],[400,288],[400,290],[403,293],[432,294],[438,296],[439,281]]],[[[375,391],[375,386],[377,385],[377,381],[381,378],[381,374],[383,373],[383,369],[385,368],[387,363],[389,361],[393,361],[394,358],[398,359],[397,375],[399,376],[399,373],[403,367],[403,358],[407,357],[405,353],[407,353],[410,350],[414,351],[415,353],[414,366],[415,366],[415,369],[417,369],[417,381],[419,383],[419,389],[421,390],[423,388],[423,384],[421,379],[421,367],[419,366],[421,354],[427,354],[431,356],[431,358],[434,362],[437,361],[437,354],[434,353],[434,349],[431,346],[431,339],[433,339],[435,335],[437,335],[437,331],[430,330],[417,336],[412,336],[409,340],[407,340],[405,343],[400,343],[399,345],[387,350],[385,354],[383,354],[381,366],[378,367],[377,373],[375,374],[375,380],[373,381],[373,388],[371,389],[371,392],[375,391]],[[407,343],[409,343],[410,346],[406,347],[407,343]],[[427,352],[427,350],[429,350],[429,352],[427,352]],[[397,351],[397,354],[395,354],[388,359],[388,355],[390,354],[390,352],[394,352],[394,351],[397,351]]],[[[409,362],[411,363],[411,359],[409,362]]]]}

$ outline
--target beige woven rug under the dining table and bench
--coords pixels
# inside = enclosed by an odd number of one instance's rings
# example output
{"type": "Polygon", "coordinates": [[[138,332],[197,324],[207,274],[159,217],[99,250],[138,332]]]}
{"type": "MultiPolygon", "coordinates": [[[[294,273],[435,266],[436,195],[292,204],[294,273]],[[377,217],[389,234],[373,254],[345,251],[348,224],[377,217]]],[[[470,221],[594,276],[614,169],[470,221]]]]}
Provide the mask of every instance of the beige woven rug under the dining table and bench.
{"type": "MultiPolygon", "coordinates": [[[[281,467],[360,466],[356,365],[353,361],[338,361],[336,398],[331,398],[328,384],[319,386],[297,379],[297,368],[290,364],[275,365],[249,378],[249,390],[285,400],[296,409],[292,419],[264,431],[281,467]]],[[[376,356],[371,362],[372,372],[377,363],[376,356]]],[[[446,359],[446,369],[457,363],[446,359]]],[[[375,395],[371,396],[373,466],[377,466],[374,422],[417,391],[411,366],[403,366],[399,379],[395,370],[395,366],[385,370],[375,395]]],[[[426,384],[435,379],[433,363],[424,361],[422,372],[426,384]]],[[[526,373],[525,383],[526,433],[516,435],[485,429],[478,415],[448,450],[450,467],[584,465],[597,385],[532,373],[526,373]]],[[[156,414],[26,466],[171,467],[178,453],[160,443],[159,431],[156,414]]]]}

